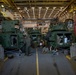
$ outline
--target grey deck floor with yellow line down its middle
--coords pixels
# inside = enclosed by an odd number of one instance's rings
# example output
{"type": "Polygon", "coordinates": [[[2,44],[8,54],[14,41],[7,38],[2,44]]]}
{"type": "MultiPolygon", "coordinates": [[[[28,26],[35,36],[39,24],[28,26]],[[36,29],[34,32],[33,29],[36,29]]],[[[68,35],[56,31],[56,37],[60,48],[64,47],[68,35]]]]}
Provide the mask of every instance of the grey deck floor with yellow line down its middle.
{"type": "Polygon", "coordinates": [[[0,75],[75,75],[75,73],[63,54],[42,54],[38,49],[37,53],[34,50],[31,56],[22,54],[8,59],[0,75]]]}

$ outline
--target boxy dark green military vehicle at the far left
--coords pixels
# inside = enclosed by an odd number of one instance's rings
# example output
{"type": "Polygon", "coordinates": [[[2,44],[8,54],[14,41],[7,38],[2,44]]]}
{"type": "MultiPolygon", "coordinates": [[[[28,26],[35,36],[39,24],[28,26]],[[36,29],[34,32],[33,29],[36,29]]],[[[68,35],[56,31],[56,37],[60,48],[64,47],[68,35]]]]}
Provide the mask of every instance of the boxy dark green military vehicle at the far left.
{"type": "Polygon", "coordinates": [[[24,32],[20,31],[18,20],[5,20],[1,22],[0,44],[5,49],[20,49],[24,45],[24,32]]]}

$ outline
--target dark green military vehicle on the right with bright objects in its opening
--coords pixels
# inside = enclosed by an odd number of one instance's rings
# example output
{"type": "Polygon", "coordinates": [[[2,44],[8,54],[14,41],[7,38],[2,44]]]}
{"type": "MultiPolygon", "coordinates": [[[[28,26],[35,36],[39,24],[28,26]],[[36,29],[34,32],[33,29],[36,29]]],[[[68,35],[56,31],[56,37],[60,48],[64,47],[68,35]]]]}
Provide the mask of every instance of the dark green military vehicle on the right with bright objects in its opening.
{"type": "Polygon", "coordinates": [[[73,26],[73,20],[69,19],[66,20],[64,23],[56,22],[50,24],[50,28],[47,33],[48,36],[46,36],[48,45],[52,46],[55,49],[69,48],[72,43],[72,28],[73,28],[72,26],[73,26]],[[68,29],[69,28],[68,26],[71,28],[71,30],[68,29]]]}

